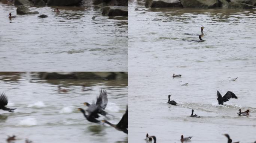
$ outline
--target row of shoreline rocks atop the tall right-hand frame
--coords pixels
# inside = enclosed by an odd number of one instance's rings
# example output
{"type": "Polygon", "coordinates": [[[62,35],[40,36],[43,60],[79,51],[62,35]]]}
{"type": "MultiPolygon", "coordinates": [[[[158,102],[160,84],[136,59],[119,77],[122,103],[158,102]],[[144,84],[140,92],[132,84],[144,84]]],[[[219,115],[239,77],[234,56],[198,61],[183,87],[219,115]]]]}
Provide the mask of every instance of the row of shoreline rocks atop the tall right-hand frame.
{"type": "Polygon", "coordinates": [[[255,9],[256,0],[145,0],[146,7],[255,9]]]}

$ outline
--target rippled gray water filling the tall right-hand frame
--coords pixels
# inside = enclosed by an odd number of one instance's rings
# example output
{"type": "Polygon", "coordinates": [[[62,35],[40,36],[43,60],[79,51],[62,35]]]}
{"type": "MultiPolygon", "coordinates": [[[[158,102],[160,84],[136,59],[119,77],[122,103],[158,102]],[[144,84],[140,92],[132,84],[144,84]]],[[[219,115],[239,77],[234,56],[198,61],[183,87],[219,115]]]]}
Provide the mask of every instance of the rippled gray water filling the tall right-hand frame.
{"type": "Polygon", "coordinates": [[[233,142],[256,141],[256,10],[150,9],[129,1],[128,23],[129,142],[145,142],[146,133],[157,143],[178,143],[182,134],[191,143],[226,143],[225,133],[233,142]],[[199,40],[201,26],[204,42],[182,40],[199,40]],[[218,105],[217,90],[238,99],[218,105]],[[177,106],[166,104],[169,94],[177,106]],[[191,109],[201,118],[189,117],[191,109]],[[238,117],[239,109],[249,117],[238,117]]]}

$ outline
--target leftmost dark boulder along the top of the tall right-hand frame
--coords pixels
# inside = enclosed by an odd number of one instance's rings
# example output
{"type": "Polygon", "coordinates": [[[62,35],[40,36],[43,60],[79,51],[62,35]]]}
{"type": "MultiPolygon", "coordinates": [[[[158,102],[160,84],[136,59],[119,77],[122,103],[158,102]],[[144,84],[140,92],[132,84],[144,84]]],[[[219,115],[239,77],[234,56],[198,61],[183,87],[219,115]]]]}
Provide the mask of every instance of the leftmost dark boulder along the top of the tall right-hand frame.
{"type": "Polygon", "coordinates": [[[183,7],[179,0],[146,0],[146,7],[183,7]]]}

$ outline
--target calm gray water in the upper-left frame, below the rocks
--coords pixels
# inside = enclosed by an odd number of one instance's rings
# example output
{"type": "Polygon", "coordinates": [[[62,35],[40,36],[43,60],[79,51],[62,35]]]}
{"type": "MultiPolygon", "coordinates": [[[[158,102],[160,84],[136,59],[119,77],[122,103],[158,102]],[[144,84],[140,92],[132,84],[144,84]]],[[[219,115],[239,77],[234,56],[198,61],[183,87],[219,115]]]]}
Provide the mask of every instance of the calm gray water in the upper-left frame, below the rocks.
{"type": "Polygon", "coordinates": [[[48,15],[40,19],[0,1],[1,71],[128,70],[128,17],[102,16],[91,3],[55,8],[31,7],[48,15]],[[17,17],[9,20],[10,12],[17,17]]]}

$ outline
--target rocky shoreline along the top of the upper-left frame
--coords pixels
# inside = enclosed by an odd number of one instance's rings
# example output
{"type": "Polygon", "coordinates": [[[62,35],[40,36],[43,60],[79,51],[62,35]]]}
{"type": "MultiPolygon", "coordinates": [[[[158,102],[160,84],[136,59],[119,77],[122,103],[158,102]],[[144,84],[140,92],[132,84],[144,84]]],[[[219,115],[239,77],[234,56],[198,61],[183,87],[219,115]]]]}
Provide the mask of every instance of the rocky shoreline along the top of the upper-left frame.
{"type": "MultiPolygon", "coordinates": [[[[80,6],[87,0],[14,0],[17,14],[39,14],[31,12],[28,7],[44,6],[80,6]]],[[[128,0],[92,0],[95,8],[101,10],[104,16],[128,16],[128,0]]]]}

